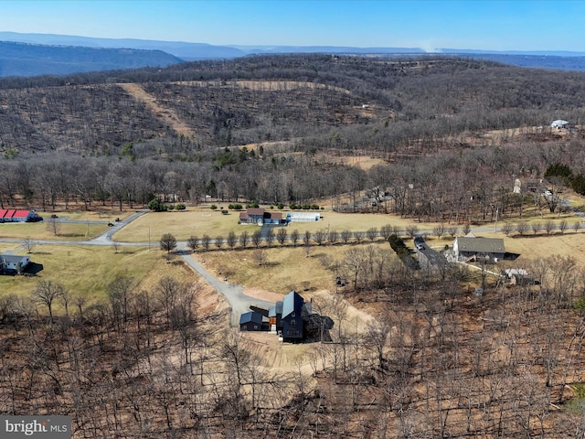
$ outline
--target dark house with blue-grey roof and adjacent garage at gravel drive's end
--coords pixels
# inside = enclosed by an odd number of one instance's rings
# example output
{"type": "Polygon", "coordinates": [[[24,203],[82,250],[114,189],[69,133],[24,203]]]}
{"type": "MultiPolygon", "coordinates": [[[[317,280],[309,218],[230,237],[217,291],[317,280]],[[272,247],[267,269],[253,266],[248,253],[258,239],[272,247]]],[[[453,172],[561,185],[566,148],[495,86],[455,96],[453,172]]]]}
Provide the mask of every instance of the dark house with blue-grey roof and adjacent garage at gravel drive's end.
{"type": "Polygon", "coordinates": [[[331,318],[314,314],[312,303],[305,302],[296,291],[286,294],[270,309],[250,308],[252,311],[239,317],[240,331],[266,331],[285,342],[328,339],[328,330],[333,327],[331,318]]]}

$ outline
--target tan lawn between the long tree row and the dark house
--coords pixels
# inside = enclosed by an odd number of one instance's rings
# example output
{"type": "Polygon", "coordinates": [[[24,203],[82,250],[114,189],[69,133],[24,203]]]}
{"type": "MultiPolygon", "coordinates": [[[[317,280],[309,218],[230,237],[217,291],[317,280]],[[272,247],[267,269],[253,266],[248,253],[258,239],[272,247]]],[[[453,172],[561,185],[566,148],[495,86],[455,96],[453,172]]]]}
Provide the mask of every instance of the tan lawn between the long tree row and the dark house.
{"type": "MultiPolygon", "coordinates": [[[[388,258],[396,257],[387,242],[378,241],[374,245],[388,251],[388,258]]],[[[334,291],[333,264],[342,261],[351,248],[356,248],[356,245],[313,246],[307,257],[303,246],[272,247],[265,249],[266,262],[263,265],[259,265],[254,255],[256,249],[197,252],[193,257],[199,262],[205,261],[207,270],[218,277],[228,278],[229,282],[287,294],[292,290],[303,292],[305,288],[334,291]]]]}

